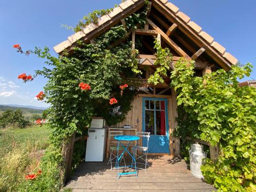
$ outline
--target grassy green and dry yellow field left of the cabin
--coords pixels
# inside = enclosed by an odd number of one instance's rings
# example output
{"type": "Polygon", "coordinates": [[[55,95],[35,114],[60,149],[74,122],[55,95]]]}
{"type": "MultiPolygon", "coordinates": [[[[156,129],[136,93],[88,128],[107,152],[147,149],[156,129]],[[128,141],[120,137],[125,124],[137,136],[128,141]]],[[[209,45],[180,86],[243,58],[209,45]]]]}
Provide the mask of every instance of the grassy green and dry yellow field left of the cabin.
{"type": "Polygon", "coordinates": [[[0,130],[0,191],[17,191],[25,175],[38,165],[50,133],[39,125],[0,130]]]}

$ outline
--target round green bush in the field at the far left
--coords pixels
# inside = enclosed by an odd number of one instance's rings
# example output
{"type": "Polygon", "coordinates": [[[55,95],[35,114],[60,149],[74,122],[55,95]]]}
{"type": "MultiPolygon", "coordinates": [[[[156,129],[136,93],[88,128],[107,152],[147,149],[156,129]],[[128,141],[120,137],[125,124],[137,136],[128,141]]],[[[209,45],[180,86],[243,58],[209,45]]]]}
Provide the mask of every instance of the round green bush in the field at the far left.
{"type": "Polygon", "coordinates": [[[29,121],[26,121],[22,110],[6,110],[0,115],[0,128],[6,128],[8,126],[25,128],[29,125],[29,121]]]}

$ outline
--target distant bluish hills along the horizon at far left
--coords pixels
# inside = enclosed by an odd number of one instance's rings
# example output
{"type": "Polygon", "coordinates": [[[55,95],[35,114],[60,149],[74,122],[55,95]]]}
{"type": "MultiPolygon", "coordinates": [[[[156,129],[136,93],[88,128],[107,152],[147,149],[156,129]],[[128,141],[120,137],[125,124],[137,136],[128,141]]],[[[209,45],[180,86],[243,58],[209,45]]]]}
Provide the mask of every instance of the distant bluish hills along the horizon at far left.
{"type": "Polygon", "coordinates": [[[46,108],[40,108],[40,109],[35,109],[39,108],[36,106],[29,106],[29,105],[15,105],[15,104],[10,104],[10,105],[5,105],[5,104],[0,104],[0,111],[4,112],[6,110],[22,110],[25,114],[31,114],[31,113],[42,113],[46,110],[46,108]],[[12,105],[12,106],[10,106],[12,105]],[[33,108],[32,108],[33,107],[33,108]]]}

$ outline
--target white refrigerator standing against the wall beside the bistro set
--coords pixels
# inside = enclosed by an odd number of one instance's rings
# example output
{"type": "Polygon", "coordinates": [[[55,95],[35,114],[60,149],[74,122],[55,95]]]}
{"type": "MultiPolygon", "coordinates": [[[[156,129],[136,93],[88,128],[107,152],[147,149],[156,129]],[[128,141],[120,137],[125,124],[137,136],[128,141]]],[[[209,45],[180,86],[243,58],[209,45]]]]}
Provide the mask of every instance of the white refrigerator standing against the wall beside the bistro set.
{"type": "Polygon", "coordinates": [[[106,129],[88,129],[86,161],[103,161],[106,148],[106,129]]]}

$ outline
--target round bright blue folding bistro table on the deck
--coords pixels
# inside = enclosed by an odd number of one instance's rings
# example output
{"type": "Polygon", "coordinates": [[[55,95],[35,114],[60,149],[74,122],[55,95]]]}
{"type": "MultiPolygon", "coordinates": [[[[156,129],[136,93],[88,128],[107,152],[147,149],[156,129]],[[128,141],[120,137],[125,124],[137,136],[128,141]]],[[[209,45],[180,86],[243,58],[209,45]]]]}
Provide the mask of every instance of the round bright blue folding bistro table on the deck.
{"type": "Polygon", "coordinates": [[[132,141],[137,141],[140,138],[138,136],[134,136],[134,135],[117,135],[114,137],[114,139],[117,140],[117,158],[116,158],[116,167],[118,170],[118,175],[117,175],[117,179],[119,179],[121,177],[121,175],[136,175],[136,177],[138,176],[138,172],[137,172],[137,167],[136,167],[136,158],[134,157],[134,153],[133,155],[127,150],[127,148],[130,146],[132,141]],[[123,145],[123,143],[121,141],[128,141],[128,144],[125,146],[123,145]],[[121,148],[124,148],[123,152],[119,155],[118,153],[118,149],[119,149],[119,145],[121,146],[121,148]],[[119,173],[119,161],[122,158],[122,156],[124,155],[124,153],[127,152],[131,157],[132,157],[132,164],[126,167],[133,167],[133,163],[134,163],[134,167],[135,167],[135,172],[126,172],[126,173],[119,173]]]}

